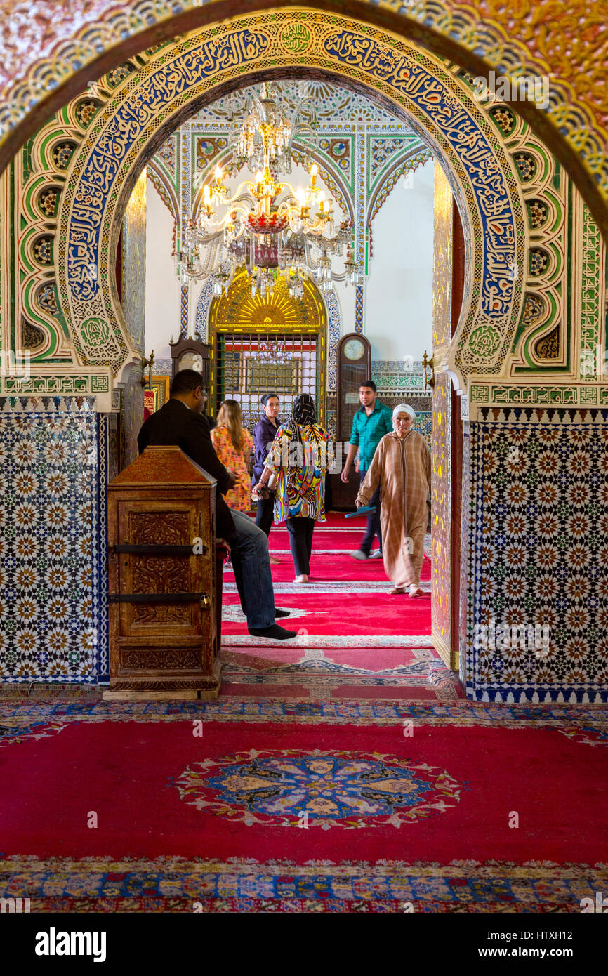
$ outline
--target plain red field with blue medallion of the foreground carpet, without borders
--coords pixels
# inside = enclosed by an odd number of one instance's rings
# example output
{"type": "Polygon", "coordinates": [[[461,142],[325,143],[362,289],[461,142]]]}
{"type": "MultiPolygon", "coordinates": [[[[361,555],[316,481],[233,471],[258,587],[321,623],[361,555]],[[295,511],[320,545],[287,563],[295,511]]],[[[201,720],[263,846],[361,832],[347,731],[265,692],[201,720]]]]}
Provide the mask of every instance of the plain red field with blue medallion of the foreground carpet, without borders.
{"type": "Polygon", "coordinates": [[[372,862],[593,863],[608,860],[607,758],[550,728],[205,721],[197,738],[191,721],[68,722],[2,750],[2,849],[304,864],[355,842],[372,862]]]}

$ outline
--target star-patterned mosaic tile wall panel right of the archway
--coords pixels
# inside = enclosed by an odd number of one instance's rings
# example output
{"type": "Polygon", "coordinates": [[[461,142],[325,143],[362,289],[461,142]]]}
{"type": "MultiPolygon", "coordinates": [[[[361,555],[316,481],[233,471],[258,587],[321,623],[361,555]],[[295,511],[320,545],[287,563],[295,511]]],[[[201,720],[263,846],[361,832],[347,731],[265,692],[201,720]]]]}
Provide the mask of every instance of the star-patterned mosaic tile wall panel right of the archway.
{"type": "Polygon", "coordinates": [[[606,701],[608,411],[481,416],[470,426],[467,693],[606,701]],[[532,626],[548,628],[547,648],[521,634],[532,626]]]}

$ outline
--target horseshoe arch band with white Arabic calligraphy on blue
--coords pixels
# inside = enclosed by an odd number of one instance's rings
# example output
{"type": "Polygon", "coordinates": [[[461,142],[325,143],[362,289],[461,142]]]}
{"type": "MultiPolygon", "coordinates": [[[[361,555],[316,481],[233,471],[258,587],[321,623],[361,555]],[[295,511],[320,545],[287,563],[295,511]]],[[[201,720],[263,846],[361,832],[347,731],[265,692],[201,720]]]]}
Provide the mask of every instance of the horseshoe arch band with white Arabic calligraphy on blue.
{"type": "Polygon", "coordinates": [[[260,70],[272,62],[288,70],[305,61],[308,70],[332,71],[343,83],[365,87],[392,111],[409,112],[408,121],[414,120],[443,160],[468,224],[474,266],[461,342],[453,350],[456,369],[463,376],[500,371],[521,305],[521,279],[511,280],[508,270],[523,263],[525,250],[516,167],[500,133],[454,72],[381,32],[370,38],[351,20],[306,14],[314,18],[306,21],[309,46],[294,56],[284,38],[303,16],[290,12],[267,22],[256,19],[251,30],[241,19],[239,29],[226,24],[220,36],[198,33],[147,61],[142,57],[139,70],[94,117],[70,164],[57,248],[61,306],[86,362],[109,360],[118,373],[132,354],[112,288],[113,225],[167,128],[191,114],[193,102],[217,98],[223,84],[234,84],[239,69],[255,62],[260,70]],[[87,267],[97,269],[97,276],[88,276],[87,267]]]}

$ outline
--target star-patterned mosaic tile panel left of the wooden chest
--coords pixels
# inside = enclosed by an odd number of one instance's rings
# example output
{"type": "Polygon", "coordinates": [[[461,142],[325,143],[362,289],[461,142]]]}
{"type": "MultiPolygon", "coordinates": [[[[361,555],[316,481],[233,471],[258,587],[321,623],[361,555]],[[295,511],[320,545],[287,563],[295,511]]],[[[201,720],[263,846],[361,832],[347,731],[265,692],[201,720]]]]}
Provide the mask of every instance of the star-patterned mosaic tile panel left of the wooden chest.
{"type": "Polygon", "coordinates": [[[0,680],[98,682],[107,673],[98,415],[82,399],[25,405],[0,400],[0,680]]]}

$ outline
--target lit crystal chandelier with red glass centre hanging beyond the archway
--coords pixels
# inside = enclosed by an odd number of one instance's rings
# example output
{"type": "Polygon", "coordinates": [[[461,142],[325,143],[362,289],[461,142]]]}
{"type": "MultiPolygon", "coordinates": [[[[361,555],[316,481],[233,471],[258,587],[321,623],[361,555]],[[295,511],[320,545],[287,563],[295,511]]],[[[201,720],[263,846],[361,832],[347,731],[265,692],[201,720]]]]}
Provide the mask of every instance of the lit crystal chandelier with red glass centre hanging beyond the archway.
{"type": "Polygon", "coordinates": [[[229,195],[223,170],[217,166],[212,180],[203,185],[197,218],[188,222],[185,250],[178,255],[182,284],[211,278],[214,294],[220,297],[242,265],[251,277],[253,298],[272,295],[278,274],[284,275],[294,299],[304,295],[305,276],[323,293],[331,291],[335,281],[361,283],[350,247],[345,271],[333,269],[332,257],[343,255],[352,228],[347,221],[335,228],[331,199],[317,185],[317,164],[309,163],[310,182],[305,188],[279,179],[291,172],[294,134],[313,137],[308,123],[296,127],[304,101],[290,118],[280,90],[264,83],[262,97],[254,96],[245,119],[233,124],[231,144],[237,162],[246,163],[255,176],[229,195]]]}

